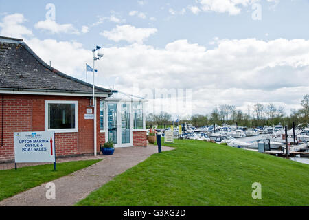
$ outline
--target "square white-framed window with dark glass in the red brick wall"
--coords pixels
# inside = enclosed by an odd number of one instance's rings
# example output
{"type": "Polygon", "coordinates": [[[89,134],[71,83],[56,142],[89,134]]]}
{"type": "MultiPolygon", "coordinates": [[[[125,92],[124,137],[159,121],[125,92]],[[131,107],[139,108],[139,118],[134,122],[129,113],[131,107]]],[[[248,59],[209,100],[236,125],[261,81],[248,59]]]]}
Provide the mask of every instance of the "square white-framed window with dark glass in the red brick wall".
{"type": "Polygon", "coordinates": [[[78,102],[46,101],[45,130],[78,132],[78,102]]]}

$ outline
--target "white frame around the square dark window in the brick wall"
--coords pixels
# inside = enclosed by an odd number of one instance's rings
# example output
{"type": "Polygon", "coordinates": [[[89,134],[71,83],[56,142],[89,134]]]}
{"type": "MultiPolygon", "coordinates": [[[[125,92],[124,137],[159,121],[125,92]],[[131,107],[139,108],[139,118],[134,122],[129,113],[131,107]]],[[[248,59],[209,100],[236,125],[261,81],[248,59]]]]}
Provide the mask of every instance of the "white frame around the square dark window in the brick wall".
{"type": "Polygon", "coordinates": [[[55,133],[77,133],[78,101],[45,100],[45,131],[54,131],[55,133]],[[48,104],[75,104],[75,129],[48,129],[48,104]]]}

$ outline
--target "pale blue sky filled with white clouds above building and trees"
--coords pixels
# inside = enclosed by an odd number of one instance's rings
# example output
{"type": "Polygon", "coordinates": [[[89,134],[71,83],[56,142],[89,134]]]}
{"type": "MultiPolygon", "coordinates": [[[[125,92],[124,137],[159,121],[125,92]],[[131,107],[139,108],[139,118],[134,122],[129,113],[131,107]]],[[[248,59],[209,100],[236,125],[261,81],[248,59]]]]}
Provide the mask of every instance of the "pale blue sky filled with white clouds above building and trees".
{"type": "MultiPolygon", "coordinates": [[[[220,104],[298,109],[309,94],[308,0],[0,0],[0,35],[96,85],[192,89],[192,112],[220,104]],[[90,74],[90,73],[89,73],[90,74]]],[[[176,114],[176,113],[174,113],[176,114]]]]}

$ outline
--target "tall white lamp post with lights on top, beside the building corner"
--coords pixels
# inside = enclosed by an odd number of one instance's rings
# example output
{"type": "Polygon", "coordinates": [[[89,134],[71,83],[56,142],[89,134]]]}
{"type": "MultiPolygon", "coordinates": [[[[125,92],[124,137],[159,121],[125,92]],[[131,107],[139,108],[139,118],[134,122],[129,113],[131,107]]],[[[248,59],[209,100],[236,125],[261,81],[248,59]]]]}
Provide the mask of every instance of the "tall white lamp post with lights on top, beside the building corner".
{"type": "Polygon", "coordinates": [[[92,50],[93,52],[93,92],[92,92],[92,103],[94,108],[94,118],[93,118],[93,147],[94,147],[94,155],[97,155],[97,102],[95,99],[95,61],[100,60],[104,56],[104,54],[98,53],[97,56],[95,56],[95,52],[97,50],[100,50],[101,47],[97,46],[95,49],[92,50]]]}

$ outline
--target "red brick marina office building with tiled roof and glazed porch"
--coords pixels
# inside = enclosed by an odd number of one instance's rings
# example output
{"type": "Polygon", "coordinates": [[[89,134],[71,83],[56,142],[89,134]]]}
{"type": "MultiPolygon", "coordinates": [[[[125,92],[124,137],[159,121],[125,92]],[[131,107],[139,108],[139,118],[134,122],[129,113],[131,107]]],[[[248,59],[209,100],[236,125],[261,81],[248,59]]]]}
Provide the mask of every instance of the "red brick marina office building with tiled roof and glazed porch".
{"type": "Polygon", "coordinates": [[[0,36],[0,162],[14,159],[14,132],[55,131],[57,156],[146,146],[144,100],[85,83],[47,65],[21,39],[0,36]],[[94,118],[94,119],[93,119],[94,118]],[[95,133],[94,133],[95,130],[95,133]]]}

